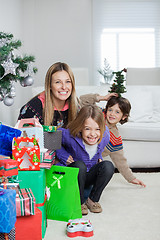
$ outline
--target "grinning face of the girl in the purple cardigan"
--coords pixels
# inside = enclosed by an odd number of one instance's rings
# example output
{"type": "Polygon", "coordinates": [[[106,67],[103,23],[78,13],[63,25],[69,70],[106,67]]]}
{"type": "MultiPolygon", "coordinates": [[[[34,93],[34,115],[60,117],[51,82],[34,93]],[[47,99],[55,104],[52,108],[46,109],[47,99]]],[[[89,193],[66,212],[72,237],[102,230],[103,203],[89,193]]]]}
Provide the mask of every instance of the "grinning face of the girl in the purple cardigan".
{"type": "Polygon", "coordinates": [[[100,138],[100,128],[98,124],[90,117],[84,122],[82,129],[82,139],[88,145],[94,145],[100,138]]]}

